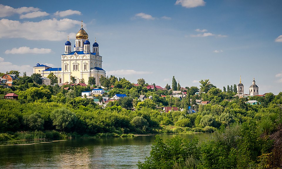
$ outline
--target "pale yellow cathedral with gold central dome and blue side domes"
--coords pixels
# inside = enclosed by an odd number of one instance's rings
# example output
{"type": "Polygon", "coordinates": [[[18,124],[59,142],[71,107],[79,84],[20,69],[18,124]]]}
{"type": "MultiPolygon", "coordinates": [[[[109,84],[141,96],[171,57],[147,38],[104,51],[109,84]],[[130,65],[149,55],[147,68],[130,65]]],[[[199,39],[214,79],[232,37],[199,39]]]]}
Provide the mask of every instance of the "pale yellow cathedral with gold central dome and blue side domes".
{"type": "Polygon", "coordinates": [[[96,86],[100,86],[101,75],[106,76],[106,71],[102,68],[99,44],[95,39],[91,52],[88,34],[83,29],[82,21],[81,29],[76,34],[73,51],[71,51],[70,41],[68,40],[65,43],[65,53],[61,55],[61,68],[52,68],[37,63],[33,67],[33,73],[40,73],[43,77],[54,73],[58,77],[58,83],[70,82],[70,76],[73,76],[75,83],[79,83],[83,79],[88,84],[88,78],[94,77],[96,86]]]}

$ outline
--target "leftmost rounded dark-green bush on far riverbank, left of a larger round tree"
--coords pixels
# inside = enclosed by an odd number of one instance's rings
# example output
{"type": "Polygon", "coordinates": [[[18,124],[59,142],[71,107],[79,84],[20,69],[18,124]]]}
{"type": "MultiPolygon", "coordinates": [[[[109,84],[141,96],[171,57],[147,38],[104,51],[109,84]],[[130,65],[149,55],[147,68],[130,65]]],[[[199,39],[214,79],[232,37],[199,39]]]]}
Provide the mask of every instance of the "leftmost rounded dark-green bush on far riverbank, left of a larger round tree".
{"type": "Polygon", "coordinates": [[[39,113],[24,116],[24,124],[31,130],[43,130],[44,120],[39,113]]]}

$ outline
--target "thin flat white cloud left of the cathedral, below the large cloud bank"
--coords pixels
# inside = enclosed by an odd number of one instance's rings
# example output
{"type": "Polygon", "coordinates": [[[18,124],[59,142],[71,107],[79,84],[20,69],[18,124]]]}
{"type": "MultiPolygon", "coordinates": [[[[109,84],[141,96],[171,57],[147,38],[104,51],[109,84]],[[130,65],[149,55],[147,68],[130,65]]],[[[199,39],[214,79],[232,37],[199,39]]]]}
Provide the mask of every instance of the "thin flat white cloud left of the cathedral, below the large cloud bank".
{"type": "Polygon", "coordinates": [[[29,48],[26,46],[19,47],[19,48],[12,48],[11,50],[6,50],[6,54],[26,54],[26,53],[37,53],[37,54],[45,54],[45,53],[50,53],[52,50],[51,49],[46,49],[46,48],[29,48]]]}

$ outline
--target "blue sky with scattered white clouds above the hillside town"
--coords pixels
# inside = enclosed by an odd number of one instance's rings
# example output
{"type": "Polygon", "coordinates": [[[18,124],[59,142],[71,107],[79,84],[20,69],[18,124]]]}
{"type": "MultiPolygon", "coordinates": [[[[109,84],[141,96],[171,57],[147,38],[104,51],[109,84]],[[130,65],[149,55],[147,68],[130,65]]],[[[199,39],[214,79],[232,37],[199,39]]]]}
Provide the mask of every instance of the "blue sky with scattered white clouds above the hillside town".
{"type": "MultiPolygon", "coordinates": [[[[0,1],[0,72],[58,67],[81,20],[106,76],[282,91],[281,0],[0,1]]],[[[73,50],[73,48],[72,48],[73,50]]]]}

